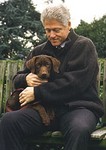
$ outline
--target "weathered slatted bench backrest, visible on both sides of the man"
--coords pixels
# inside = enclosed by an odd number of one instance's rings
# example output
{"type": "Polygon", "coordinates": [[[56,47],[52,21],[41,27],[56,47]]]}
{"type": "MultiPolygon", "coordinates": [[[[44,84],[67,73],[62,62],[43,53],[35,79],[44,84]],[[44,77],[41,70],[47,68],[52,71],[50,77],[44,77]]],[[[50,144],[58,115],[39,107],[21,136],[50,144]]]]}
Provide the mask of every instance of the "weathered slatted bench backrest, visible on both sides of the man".
{"type": "MultiPolygon", "coordinates": [[[[103,101],[106,122],[106,60],[99,59],[99,73],[97,77],[98,93],[103,101]]],[[[12,91],[12,78],[17,71],[22,70],[24,62],[21,60],[0,60],[0,114],[5,110],[5,103],[12,91]]]]}

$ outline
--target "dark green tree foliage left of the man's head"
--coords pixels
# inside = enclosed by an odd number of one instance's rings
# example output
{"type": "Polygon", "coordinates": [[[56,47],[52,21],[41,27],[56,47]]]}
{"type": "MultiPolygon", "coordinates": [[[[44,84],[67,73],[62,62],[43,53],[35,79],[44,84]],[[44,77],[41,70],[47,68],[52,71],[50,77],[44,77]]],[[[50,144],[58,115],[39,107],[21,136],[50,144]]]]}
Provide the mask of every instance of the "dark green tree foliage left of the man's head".
{"type": "Polygon", "coordinates": [[[44,40],[40,13],[31,0],[8,0],[0,4],[0,57],[24,58],[44,40]]]}

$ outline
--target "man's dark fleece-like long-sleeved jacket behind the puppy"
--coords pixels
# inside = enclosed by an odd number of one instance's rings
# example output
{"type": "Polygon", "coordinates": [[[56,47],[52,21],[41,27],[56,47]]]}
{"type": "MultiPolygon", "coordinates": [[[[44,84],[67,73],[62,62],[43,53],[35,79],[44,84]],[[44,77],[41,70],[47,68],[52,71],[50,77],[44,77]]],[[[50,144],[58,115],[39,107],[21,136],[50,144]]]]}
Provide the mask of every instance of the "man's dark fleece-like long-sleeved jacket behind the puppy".
{"type": "MultiPolygon", "coordinates": [[[[86,107],[101,117],[103,106],[96,87],[97,52],[92,41],[71,29],[64,48],[58,49],[47,41],[37,46],[27,60],[40,54],[56,57],[61,61],[61,66],[59,75],[53,81],[34,88],[36,101],[54,107],[68,105],[70,109],[86,107]]],[[[27,86],[25,78],[28,73],[26,67],[17,73],[14,77],[15,88],[27,86]]]]}

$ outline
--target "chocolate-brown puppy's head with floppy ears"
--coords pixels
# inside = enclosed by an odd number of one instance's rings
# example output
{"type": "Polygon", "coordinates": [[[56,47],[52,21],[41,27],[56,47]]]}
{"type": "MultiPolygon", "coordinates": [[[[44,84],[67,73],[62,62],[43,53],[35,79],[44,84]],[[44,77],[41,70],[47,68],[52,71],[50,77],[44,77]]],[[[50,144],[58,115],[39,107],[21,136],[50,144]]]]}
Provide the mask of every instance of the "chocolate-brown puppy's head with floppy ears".
{"type": "Polygon", "coordinates": [[[27,68],[41,79],[49,79],[51,72],[59,72],[60,61],[48,55],[34,56],[26,62],[27,68]]]}

